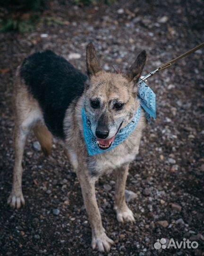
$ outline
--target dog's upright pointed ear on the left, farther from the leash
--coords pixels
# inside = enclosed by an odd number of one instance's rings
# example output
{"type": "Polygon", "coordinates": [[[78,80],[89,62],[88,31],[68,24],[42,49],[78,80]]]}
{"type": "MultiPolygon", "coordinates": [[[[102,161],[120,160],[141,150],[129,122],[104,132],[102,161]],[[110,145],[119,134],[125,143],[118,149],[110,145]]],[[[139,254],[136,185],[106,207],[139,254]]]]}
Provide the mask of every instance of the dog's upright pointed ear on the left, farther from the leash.
{"type": "Polygon", "coordinates": [[[88,76],[95,75],[99,71],[102,71],[102,68],[99,63],[99,59],[96,55],[95,47],[92,43],[89,43],[86,46],[86,66],[88,76]]]}

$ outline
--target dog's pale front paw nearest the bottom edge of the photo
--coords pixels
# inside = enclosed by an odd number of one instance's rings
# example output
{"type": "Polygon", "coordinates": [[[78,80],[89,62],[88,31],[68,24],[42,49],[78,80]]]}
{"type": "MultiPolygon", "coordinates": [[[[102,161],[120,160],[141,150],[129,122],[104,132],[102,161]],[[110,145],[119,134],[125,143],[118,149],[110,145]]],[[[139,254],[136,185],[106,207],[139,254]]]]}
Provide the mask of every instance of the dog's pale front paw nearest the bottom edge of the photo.
{"type": "Polygon", "coordinates": [[[103,232],[99,236],[94,236],[92,237],[92,248],[93,249],[98,249],[100,252],[109,252],[111,245],[113,245],[114,242],[110,238],[108,238],[103,232]]]}

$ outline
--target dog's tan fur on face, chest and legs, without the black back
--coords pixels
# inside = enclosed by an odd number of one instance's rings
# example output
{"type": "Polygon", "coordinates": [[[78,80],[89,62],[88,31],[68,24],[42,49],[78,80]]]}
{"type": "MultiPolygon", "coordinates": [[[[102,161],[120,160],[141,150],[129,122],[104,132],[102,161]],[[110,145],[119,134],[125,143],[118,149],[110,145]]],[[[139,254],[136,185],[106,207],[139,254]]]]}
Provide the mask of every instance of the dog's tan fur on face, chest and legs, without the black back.
{"type": "MultiPolygon", "coordinates": [[[[119,146],[109,152],[89,156],[87,153],[83,136],[82,108],[85,107],[89,115],[94,114],[96,119],[103,113],[110,124],[110,137],[113,136],[119,127],[119,120],[122,119],[122,127],[125,127],[131,120],[139,107],[139,100],[136,98],[136,86],[133,81],[125,76],[116,73],[102,71],[97,58],[94,56],[93,47],[87,47],[87,68],[90,80],[87,82],[83,95],[73,101],[68,107],[64,118],[64,132],[66,139],[63,141],[67,149],[69,160],[73,165],[81,185],[85,208],[92,227],[92,247],[99,251],[109,251],[113,241],[107,237],[102,226],[102,218],[95,197],[95,182],[99,176],[115,170],[116,192],[115,205],[117,219],[120,222],[134,222],[133,212],[128,208],[125,201],[125,185],[128,174],[128,166],[138,154],[142,130],[146,120],[142,110],[141,118],[134,132],[119,146]],[[89,52],[91,51],[91,52],[89,52]],[[90,106],[90,99],[98,97],[103,102],[103,109],[94,112],[90,106]],[[119,99],[125,103],[123,110],[116,112],[111,110],[109,102],[119,99]],[[94,113],[93,113],[94,112],[94,113]]],[[[137,63],[137,62],[136,62],[137,63]]],[[[139,59],[139,66],[134,64],[134,72],[142,72],[145,58],[139,59]]],[[[133,69],[133,68],[132,68],[133,69]]],[[[128,77],[134,77],[128,73],[128,77]]],[[[138,76],[138,74],[136,74],[138,76]]],[[[42,111],[39,104],[27,91],[24,81],[19,77],[15,83],[16,88],[16,120],[15,120],[15,165],[13,172],[13,186],[8,203],[12,207],[19,208],[25,203],[22,193],[22,157],[26,137],[31,128],[42,145],[42,149],[49,153],[51,151],[51,133],[44,125],[42,111]]],[[[56,120],[57,121],[57,120],[56,120]]]]}

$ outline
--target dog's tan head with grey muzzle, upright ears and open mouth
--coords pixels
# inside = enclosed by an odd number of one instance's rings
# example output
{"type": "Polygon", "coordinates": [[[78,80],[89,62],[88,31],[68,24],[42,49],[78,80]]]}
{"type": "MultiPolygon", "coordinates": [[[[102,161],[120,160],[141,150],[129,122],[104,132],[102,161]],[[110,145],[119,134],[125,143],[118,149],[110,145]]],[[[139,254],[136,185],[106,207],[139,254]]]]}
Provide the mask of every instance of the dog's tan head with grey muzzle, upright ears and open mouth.
{"type": "Polygon", "coordinates": [[[146,52],[142,51],[126,74],[108,73],[102,70],[93,44],[88,44],[85,110],[101,149],[108,149],[119,129],[133,119],[139,107],[136,82],[145,62],[146,52]]]}

